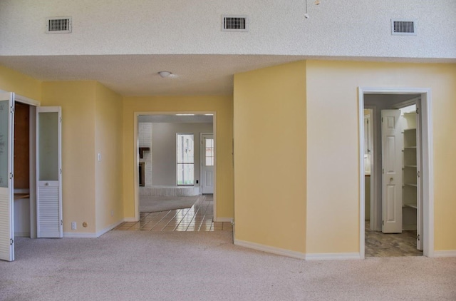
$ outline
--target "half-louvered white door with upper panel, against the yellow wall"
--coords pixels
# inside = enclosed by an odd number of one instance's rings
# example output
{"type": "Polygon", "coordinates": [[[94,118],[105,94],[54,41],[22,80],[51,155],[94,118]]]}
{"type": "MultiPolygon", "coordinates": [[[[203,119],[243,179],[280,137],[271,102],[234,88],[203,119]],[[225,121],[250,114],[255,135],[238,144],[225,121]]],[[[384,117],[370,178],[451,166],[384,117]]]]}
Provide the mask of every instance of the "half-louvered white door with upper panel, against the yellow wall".
{"type": "Polygon", "coordinates": [[[36,223],[38,238],[63,237],[61,108],[36,108],[36,223]]]}

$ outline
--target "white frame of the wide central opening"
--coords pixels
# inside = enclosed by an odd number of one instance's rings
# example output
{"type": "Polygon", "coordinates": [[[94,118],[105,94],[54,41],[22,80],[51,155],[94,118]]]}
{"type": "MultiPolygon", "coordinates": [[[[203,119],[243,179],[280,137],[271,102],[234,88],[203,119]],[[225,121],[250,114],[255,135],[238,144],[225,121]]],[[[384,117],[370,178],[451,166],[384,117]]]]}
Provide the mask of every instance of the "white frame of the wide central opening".
{"type": "MultiPolygon", "coordinates": [[[[138,173],[139,166],[139,138],[138,138],[138,116],[140,115],[151,115],[151,116],[162,116],[162,115],[176,115],[176,114],[195,114],[195,115],[212,115],[212,134],[214,135],[214,146],[217,153],[217,112],[215,111],[135,111],[133,113],[133,190],[135,193],[135,218],[131,221],[140,220],[140,180],[138,173]]],[[[153,131],[153,130],[152,130],[153,131]]],[[[217,154],[214,153],[214,200],[212,202],[212,208],[214,210],[214,221],[217,221],[217,154]]],[[[129,219],[130,221],[130,219],[129,219]]]]}

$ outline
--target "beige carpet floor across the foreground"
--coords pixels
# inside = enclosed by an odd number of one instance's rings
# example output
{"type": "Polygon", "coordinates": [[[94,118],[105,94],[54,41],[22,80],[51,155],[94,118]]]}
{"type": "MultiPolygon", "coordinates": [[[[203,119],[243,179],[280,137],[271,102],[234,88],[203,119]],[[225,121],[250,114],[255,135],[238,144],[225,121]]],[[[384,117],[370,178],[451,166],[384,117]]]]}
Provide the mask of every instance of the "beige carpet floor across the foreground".
{"type": "Polygon", "coordinates": [[[456,258],[304,261],[232,233],[111,231],[16,241],[0,300],[456,300],[456,258]]]}

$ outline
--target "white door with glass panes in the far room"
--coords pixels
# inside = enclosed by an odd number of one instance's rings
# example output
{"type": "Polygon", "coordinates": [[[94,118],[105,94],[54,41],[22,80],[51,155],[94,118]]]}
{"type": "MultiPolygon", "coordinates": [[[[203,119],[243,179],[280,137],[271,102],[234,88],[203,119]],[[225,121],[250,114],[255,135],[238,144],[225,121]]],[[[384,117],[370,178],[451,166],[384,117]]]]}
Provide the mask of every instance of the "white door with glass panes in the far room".
{"type": "Polygon", "coordinates": [[[201,135],[201,192],[214,193],[214,135],[201,135]]]}

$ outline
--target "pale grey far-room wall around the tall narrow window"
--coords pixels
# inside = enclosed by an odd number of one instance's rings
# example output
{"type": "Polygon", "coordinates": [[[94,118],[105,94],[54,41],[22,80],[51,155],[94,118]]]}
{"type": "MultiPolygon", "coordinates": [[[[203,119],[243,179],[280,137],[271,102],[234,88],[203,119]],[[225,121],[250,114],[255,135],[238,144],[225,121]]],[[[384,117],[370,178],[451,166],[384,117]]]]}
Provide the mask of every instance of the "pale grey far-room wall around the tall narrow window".
{"type": "MultiPolygon", "coordinates": [[[[195,136],[195,184],[199,181],[199,133],[212,133],[212,123],[152,123],[152,185],[176,185],[176,134],[195,136]]],[[[147,175],[146,175],[147,178],[147,175]]]]}

